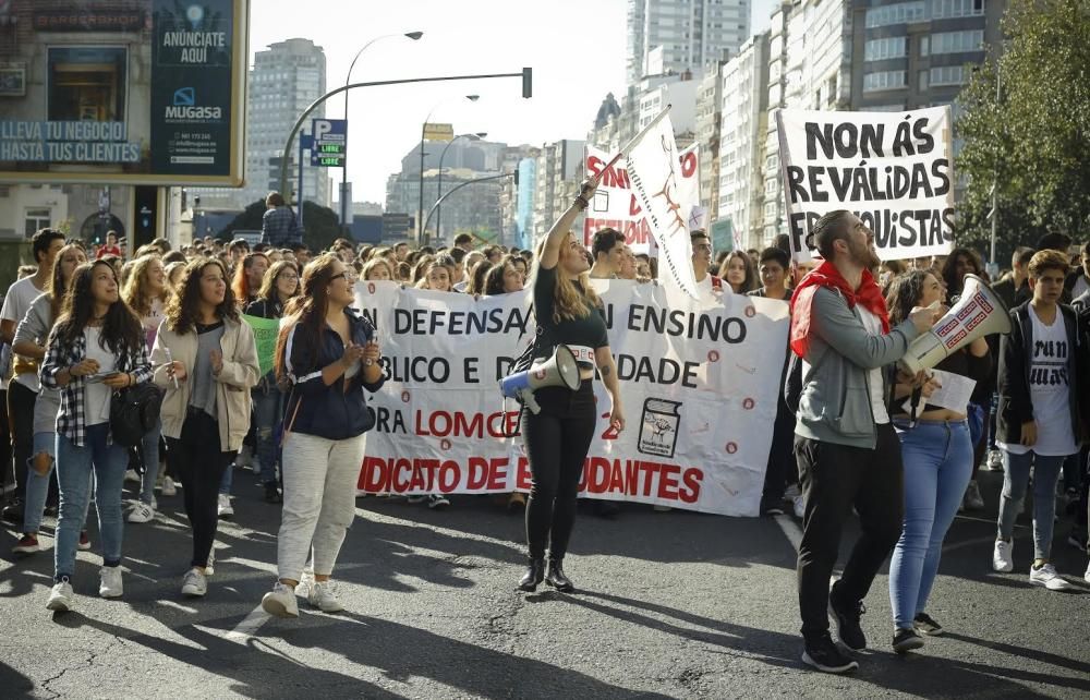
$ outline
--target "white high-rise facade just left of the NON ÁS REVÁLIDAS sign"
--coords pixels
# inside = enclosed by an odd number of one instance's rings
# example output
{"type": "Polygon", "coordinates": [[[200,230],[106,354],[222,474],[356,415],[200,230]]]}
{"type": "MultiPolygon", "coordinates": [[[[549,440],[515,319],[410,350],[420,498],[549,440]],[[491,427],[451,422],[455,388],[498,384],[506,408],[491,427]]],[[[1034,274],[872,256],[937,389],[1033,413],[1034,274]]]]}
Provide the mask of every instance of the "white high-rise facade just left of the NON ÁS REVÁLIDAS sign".
{"type": "MultiPolygon", "coordinates": [[[[763,172],[768,110],[768,33],[754,35],[723,68],[718,217],[747,249],[766,248],[763,172]]],[[[778,173],[775,157],[768,169],[778,173]]]]}

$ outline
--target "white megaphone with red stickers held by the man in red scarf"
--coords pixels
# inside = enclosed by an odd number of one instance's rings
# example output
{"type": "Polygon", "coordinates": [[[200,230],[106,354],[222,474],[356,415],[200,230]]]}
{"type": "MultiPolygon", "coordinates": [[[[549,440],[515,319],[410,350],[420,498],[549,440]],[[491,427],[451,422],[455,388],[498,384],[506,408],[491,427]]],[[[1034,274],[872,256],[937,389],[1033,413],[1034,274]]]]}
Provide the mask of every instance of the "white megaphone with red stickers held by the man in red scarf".
{"type": "Polygon", "coordinates": [[[900,366],[909,374],[930,370],[955,350],[993,333],[1010,333],[1007,306],[984,280],[966,275],[957,303],[931,330],[908,346],[900,366]]]}

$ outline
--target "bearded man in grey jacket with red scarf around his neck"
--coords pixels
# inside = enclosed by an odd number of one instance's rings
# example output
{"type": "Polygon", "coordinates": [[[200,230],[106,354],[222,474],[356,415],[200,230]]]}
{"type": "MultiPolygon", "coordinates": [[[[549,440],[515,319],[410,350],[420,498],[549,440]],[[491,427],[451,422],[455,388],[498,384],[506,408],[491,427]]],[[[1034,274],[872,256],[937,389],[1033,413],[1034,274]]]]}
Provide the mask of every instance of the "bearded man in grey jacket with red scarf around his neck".
{"type": "Polygon", "coordinates": [[[791,350],[803,360],[795,429],[806,512],[799,546],[802,661],[829,673],[859,667],[834,643],[828,614],[849,650],[867,647],[863,598],[900,538],[904,511],[900,442],[886,410],[886,367],[937,318],[918,309],[889,328],[871,275],[881,264],[874,236],[850,212],[824,215],[813,229],[824,262],[791,297],[791,350]],[[855,506],[862,535],[829,589],[844,520],[855,506]]]}

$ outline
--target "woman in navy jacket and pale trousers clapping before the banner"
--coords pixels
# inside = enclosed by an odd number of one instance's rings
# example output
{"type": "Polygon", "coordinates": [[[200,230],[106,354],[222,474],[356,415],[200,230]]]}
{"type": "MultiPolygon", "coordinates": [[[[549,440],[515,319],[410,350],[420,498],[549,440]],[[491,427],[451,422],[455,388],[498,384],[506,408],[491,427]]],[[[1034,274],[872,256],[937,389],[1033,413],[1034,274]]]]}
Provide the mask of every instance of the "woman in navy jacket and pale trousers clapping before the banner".
{"type": "Polygon", "coordinates": [[[265,612],[277,617],[299,616],[301,582],[314,607],[343,610],[329,579],[355,517],[364,433],[375,423],[365,391],[385,382],[375,327],[351,309],[352,279],[336,255],[311,261],[277,341],[277,376],[293,384],[284,412],[278,578],[262,599],[265,612]]]}

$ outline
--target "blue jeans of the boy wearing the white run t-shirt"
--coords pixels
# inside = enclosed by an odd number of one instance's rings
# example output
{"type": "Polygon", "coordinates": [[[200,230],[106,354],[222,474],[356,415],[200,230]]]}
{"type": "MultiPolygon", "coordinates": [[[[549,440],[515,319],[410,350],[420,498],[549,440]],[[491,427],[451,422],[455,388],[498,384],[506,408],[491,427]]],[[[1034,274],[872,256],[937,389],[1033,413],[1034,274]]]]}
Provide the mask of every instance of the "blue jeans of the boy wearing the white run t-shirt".
{"type": "Polygon", "coordinates": [[[1053,517],[1056,515],[1056,483],[1066,456],[1046,457],[1029,450],[1013,455],[1003,450],[1003,493],[1000,498],[1001,540],[1010,540],[1018,507],[1026,497],[1029,470],[1033,468],[1033,558],[1047,559],[1052,552],[1053,517]]]}

